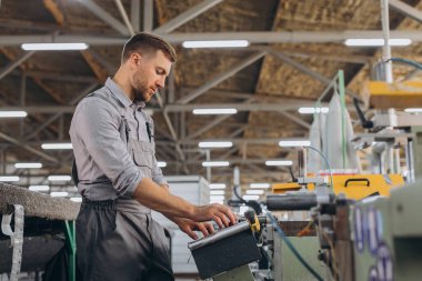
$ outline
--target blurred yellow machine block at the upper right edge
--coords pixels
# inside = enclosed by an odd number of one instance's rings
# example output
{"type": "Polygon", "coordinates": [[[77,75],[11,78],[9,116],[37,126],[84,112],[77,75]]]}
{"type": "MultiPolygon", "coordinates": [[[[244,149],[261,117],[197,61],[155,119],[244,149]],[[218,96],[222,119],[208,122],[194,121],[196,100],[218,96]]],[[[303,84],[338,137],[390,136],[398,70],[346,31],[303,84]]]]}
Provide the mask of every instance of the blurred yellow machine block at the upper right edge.
{"type": "Polygon", "coordinates": [[[422,82],[403,81],[386,83],[370,81],[368,84],[370,104],[376,109],[405,109],[422,107],[422,82]]]}

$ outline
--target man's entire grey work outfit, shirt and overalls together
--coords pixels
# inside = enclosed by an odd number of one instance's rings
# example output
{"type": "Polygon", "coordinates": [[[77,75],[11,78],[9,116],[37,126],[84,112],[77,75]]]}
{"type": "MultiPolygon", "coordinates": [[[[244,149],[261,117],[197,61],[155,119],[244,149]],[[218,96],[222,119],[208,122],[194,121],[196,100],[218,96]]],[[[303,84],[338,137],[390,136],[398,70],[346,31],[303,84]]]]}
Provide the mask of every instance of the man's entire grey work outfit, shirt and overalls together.
{"type": "Polygon", "coordinates": [[[70,127],[78,191],[78,265],[84,281],[173,280],[169,241],[132,199],[142,178],[165,179],[152,119],[111,80],[78,104],[70,127]]]}

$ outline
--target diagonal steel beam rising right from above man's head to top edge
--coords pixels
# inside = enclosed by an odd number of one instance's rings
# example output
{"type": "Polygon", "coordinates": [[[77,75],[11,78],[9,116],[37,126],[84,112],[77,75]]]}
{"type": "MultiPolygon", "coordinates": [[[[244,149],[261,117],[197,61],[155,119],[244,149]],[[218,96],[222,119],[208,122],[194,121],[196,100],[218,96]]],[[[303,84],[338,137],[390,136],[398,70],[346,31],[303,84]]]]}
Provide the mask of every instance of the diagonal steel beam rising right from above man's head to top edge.
{"type": "Polygon", "coordinates": [[[154,33],[169,33],[179,27],[183,26],[185,22],[190,21],[191,19],[198,17],[199,14],[203,13],[204,11],[211,9],[215,4],[220,3],[222,0],[203,0],[199,4],[195,4],[194,7],[190,8],[189,10],[180,13],[178,17],[169,20],[161,27],[153,30],[154,33]]]}

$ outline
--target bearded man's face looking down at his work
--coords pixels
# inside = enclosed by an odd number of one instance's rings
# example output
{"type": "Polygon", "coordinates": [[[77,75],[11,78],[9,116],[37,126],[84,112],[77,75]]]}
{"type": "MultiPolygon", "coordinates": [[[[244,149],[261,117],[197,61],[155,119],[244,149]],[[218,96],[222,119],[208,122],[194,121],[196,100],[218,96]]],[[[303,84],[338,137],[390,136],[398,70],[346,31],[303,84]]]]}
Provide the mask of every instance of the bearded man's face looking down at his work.
{"type": "Polygon", "coordinates": [[[160,50],[141,56],[132,79],[134,101],[149,102],[152,96],[164,87],[170,69],[171,61],[160,50]]]}

